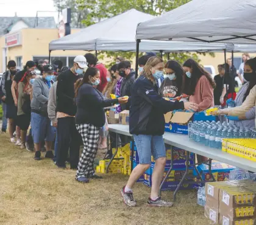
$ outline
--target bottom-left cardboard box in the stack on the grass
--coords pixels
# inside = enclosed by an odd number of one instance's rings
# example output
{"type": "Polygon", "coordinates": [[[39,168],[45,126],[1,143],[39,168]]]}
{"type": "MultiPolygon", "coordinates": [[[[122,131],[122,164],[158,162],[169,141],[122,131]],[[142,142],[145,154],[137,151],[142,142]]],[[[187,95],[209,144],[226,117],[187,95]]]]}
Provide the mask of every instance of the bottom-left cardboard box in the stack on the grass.
{"type": "Polygon", "coordinates": [[[219,223],[219,209],[218,201],[216,199],[206,199],[204,215],[206,218],[208,218],[208,220],[212,221],[212,224],[219,223]]]}

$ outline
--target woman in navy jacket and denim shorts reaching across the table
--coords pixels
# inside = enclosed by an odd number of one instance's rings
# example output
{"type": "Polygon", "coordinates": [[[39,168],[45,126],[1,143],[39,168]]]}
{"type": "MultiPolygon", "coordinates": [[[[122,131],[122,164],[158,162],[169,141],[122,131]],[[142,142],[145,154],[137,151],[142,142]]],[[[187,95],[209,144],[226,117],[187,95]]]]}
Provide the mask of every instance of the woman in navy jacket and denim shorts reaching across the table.
{"type": "Polygon", "coordinates": [[[164,114],[175,109],[197,110],[193,102],[170,102],[158,94],[156,85],[158,78],[163,75],[164,64],[160,57],[151,57],[144,66],[143,74],[135,81],[132,90],[130,108],[130,134],[135,139],[140,164],[130,175],[127,184],[121,189],[127,206],[136,206],[133,199],[132,187],[135,182],[151,166],[151,154],[155,160],[152,175],[151,195],[148,199],[150,206],[172,206],[158,196],[163,172],[166,164],[166,150],[163,141],[165,133],[164,114]]]}

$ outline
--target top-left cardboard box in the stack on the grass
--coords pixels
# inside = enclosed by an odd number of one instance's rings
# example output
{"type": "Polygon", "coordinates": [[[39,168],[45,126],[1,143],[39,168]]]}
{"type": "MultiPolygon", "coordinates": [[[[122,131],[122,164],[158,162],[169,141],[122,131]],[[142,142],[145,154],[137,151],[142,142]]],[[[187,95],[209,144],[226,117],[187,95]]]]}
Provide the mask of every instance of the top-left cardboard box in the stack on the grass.
{"type": "Polygon", "coordinates": [[[232,184],[229,181],[223,181],[223,182],[208,182],[205,184],[205,195],[212,197],[216,200],[219,200],[219,189],[222,187],[236,187],[235,184],[232,184]]]}

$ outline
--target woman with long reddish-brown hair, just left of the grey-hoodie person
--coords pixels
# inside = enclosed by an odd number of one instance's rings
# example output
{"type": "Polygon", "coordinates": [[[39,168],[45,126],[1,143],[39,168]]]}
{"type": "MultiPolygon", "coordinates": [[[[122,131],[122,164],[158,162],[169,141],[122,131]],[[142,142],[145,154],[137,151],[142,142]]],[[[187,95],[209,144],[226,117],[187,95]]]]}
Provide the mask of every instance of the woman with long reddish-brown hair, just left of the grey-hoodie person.
{"type": "Polygon", "coordinates": [[[30,94],[32,92],[32,85],[30,79],[34,77],[34,71],[27,71],[18,83],[18,111],[16,123],[21,129],[21,149],[26,148],[27,129],[29,128],[31,118],[30,94]]]}

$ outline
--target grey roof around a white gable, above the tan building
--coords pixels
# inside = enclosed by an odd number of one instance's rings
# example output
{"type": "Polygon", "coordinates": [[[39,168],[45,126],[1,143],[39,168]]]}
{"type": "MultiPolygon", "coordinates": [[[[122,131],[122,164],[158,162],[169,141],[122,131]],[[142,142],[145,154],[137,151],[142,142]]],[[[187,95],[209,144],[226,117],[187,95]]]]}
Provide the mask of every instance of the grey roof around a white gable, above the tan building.
{"type": "Polygon", "coordinates": [[[12,26],[18,21],[24,21],[28,27],[37,27],[37,28],[55,28],[56,23],[53,16],[49,17],[0,17],[0,35],[8,33],[12,26]],[[38,19],[38,26],[37,26],[38,19]]]}

